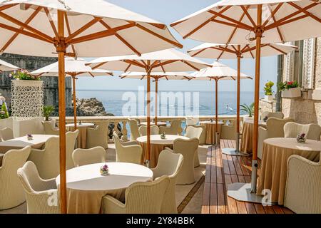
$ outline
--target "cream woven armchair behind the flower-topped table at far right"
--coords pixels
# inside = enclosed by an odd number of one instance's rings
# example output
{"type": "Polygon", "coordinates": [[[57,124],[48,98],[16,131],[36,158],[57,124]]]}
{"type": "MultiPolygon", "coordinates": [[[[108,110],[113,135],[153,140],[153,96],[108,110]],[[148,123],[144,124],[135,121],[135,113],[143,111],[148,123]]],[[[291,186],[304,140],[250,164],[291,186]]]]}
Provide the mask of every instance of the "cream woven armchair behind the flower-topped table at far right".
{"type": "Polygon", "coordinates": [[[305,133],[308,140],[320,141],[321,127],[317,124],[287,123],[284,125],[285,138],[297,138],[300,133],[305,133]]]}

